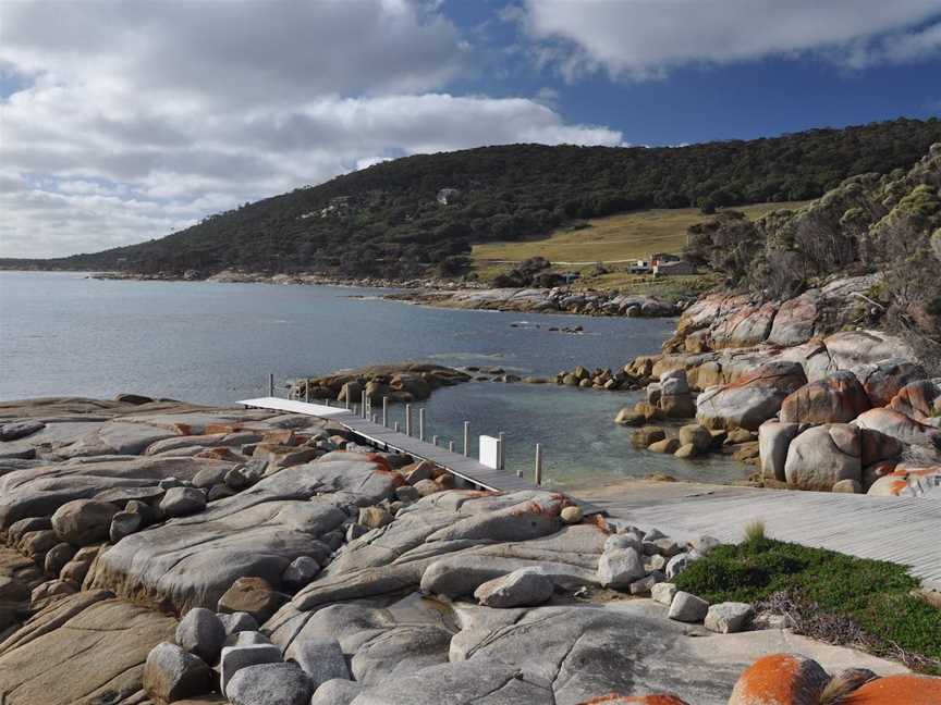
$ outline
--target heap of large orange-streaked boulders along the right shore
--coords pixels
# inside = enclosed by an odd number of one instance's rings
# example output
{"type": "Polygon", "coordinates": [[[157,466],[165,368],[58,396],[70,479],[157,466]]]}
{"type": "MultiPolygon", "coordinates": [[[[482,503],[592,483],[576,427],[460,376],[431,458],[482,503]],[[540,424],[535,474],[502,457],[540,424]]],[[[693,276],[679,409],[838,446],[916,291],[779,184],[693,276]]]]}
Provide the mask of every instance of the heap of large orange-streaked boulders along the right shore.
{"type": "Polygon", "coordinates": [[[901,338],[852,325],[865,322],[873,282],[835,280],[783,302],[701,298],[662,355],[625,366],[649,381],[647,399],[615,421],[644,426],[638,445],[681,458],[708,453],[719,436],[757,437],[771,486],[941,495],[941,379],[901,338]],[[701,443],[668,446],[664,429],[649,425],[693,417],[681,440],[701,443]]]}

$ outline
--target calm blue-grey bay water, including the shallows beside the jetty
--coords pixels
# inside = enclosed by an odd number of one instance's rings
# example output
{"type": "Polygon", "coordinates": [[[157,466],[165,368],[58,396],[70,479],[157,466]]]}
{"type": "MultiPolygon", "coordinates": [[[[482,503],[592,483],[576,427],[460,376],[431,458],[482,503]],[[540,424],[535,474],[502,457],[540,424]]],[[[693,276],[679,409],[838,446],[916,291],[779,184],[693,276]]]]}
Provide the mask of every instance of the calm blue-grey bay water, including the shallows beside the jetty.
{"type": "MultiPolygon", "coordinates": [[[[420,308],[375,295],[0,272],[0,398],[135,392],[231,404],[267,394],[268,372],[288,380],[404,360],[554,375],[576,364],[615,368],[655,352],[673,326],[672,320],[420,308]],[[511,326],[524,321],[543,330],[511,326]],[[576,323],[583,335],[545,330],[576,323]]],[[[636,398],[475,382],[435,393],[426,405],[428,434],[457,437],[465,419],[474,433],[502,430],[508,466],[526,472],[534,444],[541,443],[546,474],[564,484],[651,472],[711,481],[744,477],[743,467],[729,461],[677,461],[633,450],[630,432],[612,418],[636,398]]]]}

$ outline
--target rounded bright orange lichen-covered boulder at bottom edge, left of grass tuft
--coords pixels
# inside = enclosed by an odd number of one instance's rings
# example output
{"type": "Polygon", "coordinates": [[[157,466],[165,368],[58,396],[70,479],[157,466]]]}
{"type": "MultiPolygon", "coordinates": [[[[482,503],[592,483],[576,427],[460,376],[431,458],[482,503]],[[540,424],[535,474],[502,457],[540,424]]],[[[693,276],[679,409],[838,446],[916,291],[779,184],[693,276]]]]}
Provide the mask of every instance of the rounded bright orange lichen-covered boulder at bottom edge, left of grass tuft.
{"type": "Polygon", "coordinates": [[[830,680],[820,664],[793,654],[771,654],[749,666],[729,705],[819,705],[830,680]]]}

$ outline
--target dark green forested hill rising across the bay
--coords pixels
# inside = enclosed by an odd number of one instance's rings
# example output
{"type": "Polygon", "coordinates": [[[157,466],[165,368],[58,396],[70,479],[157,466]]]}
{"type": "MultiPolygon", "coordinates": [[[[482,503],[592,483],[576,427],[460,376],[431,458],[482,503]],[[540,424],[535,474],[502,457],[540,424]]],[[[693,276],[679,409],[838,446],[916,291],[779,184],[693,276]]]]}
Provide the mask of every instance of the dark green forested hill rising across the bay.
{"type": "Polygon", "coordinates": [[[932,118],[675,148],[509,145],[406,157],[211,215],[162,239],[44,264],[204,275],[228,268],[452,274],[473,243],[638,208],[814,198],[854,174],[907,169],[936,141],[941,121],[932,118]]]}

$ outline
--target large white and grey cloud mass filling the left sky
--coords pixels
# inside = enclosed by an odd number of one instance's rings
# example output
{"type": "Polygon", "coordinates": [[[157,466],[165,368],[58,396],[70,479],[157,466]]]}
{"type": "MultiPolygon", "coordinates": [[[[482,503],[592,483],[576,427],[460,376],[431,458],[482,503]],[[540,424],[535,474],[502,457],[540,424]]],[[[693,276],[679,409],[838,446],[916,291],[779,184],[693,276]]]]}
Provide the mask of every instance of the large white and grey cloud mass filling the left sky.
{"type": "Polygon", "coordinates": [[[4,257],[160,237],[403,154],[622,141],[448,92],[468,48],[435,3],[13,2],[0,23],[4,257]]]}

